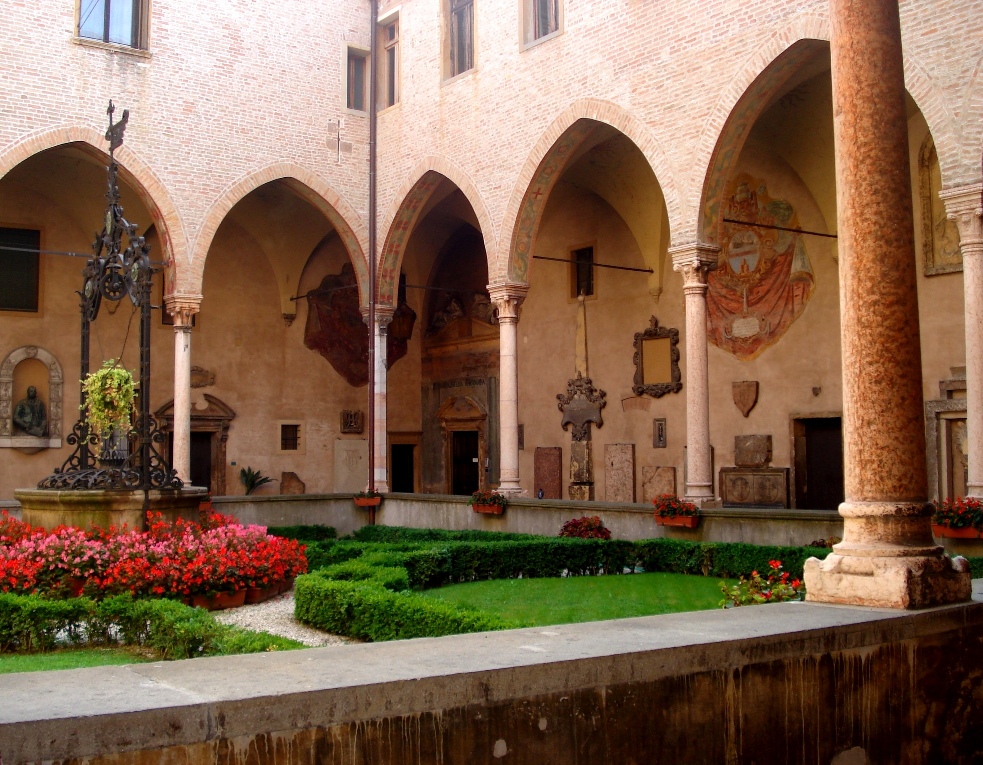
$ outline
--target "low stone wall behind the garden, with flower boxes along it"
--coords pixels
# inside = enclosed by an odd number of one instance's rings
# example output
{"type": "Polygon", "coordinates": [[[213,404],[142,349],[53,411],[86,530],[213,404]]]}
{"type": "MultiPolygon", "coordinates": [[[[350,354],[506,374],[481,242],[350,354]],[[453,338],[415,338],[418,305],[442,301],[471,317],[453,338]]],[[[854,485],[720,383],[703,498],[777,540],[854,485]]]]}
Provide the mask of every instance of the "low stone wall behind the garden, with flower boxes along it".
{"type": "MultiPolygon", "coordinates": [[[[213,503],[216,510],[243,523],[265,526],[319,523],[334,526],[344,535],[368,523],[367,511],[356,509],[348,494],[216,497],[213,503]]],[[[509,503],[504,515],[490,516],[473,512],[466,497],[431,494],[387,494],[376,513],[376,523],[556,536],[564,522],[582,515],[599,515],[616,539],[668,536],[707,542],[805,545],[843,535],[839,514],[824,510],[705,510],[700,526],[690,530],[656,525],[649,505],[518,499],[509,503]]]]}

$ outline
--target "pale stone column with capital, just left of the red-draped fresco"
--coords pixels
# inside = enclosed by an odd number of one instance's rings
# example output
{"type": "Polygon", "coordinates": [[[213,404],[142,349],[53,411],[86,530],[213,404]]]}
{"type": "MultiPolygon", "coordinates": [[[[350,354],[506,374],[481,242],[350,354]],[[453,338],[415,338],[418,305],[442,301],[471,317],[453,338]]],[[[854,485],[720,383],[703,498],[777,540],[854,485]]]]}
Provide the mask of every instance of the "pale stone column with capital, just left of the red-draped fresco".
{"type": "Polygon", "coordinates": [[[688,244],[669,250],[672,267],[683,274],[686,301],[686,488],[699,507],[717,505],[710,451],[710,380],[707,363],[707,274],[717,267],[720,248],[688,244]]]}

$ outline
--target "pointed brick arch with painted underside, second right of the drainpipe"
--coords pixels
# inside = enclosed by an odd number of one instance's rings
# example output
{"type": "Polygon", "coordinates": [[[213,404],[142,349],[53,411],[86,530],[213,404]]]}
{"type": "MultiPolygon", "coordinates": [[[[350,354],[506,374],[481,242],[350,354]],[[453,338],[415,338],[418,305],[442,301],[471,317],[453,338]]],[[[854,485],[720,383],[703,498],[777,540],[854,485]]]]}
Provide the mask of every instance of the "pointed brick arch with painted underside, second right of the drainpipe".
{"type": "Polygon", "coordinates": [[[575,101],[555,119],[540,136],[529,153],[516,179],[505,220],[513,221],[509,231],[507,251],[499,248],[506,258],[495,269],[492,282],[503,278],[524,284],[529,274],[529,257],[539,231],[543,209],[550,191],[562,174],[569,157],[583,144],[594,129],[594,123],[615,128],[629,138],[648,161],[662,190],[669,230],[680,223],[678,186],[668,156],[649,129],[627,111],[610,101],[584,98],[575,101]]]}

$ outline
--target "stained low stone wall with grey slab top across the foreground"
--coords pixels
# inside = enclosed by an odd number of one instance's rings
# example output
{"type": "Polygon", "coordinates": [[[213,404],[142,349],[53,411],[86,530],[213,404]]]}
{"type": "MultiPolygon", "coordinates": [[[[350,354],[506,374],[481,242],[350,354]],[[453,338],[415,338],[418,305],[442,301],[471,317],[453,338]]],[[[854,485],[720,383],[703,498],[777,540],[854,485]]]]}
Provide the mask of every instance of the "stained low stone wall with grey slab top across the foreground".
{"type": "Polygon", "coordinates": [[[968,763],[983,750],[983,602],[15,674],[0,694],[5,765],[968,763]]]}

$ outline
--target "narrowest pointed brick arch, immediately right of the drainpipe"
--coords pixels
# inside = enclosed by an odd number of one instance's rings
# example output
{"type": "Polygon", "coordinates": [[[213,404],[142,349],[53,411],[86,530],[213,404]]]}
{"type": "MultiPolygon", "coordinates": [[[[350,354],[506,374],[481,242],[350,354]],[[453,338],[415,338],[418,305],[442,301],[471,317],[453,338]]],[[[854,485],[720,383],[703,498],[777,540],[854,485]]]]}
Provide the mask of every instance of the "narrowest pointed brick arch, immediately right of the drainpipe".
{"type": "Polygon", "coordinates": [[[406,243],[427,200],[446,178],[464,194],[481,229],[485,242],[485,257],[488,259],[488,274],[491,276],[495,264],[496,236],[491,216],[478,189],[464,171],[443,157],[427,157],[414,169],[403,187],[397,192],[393,203],[383,218],[382,230],[386,232],[380,258],[378,296],[382,305],[395,305],[396,289],[399,286],[399,269],[403,262],[406,243]]]}

